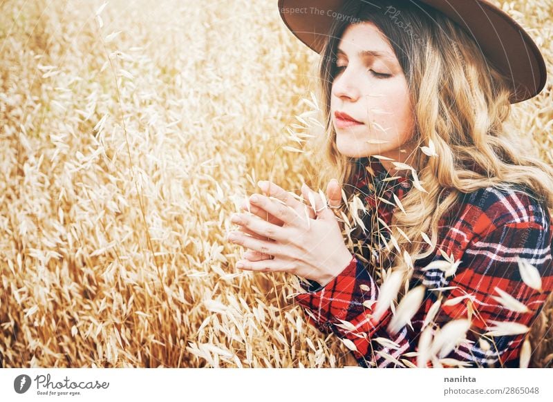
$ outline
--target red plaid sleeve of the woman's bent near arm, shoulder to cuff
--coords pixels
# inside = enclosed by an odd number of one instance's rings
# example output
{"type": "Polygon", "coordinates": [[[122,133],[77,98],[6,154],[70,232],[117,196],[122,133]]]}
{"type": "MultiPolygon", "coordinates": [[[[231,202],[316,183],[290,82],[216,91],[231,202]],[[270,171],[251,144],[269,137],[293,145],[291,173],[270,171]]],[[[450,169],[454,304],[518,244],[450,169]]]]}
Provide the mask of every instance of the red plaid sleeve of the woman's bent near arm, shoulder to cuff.
{"type": "MultiPolygon", "coordinates": [[[[553,287],[551,238],[547,229],[537,222],[503,224],[497,228],[491,225],[491,228],[485,236],[475,236],[467,245],[456,274],[449,278],[449,283],[445,282],[447,290],[441,291],[440,309],[430,323],[432,332],[435,332],[451,320],[471,320],[466,339],[456,343],[447,356],[440,356],[441,362],[449,362],[449,367],[453,365],[452,361],[460,361],[465,367],[498,367],[505,361],[518,358],[525,334],[486,336],[485,333],[494,326],[494,321],[532,325],[553,287]],[[522,280],[518,256],[538,270],[541,291],[532,289],[522,280]],[[493,297],[500,296],[496,287],[526,305],[530,311],[515,312],[498,303],[493,297]]],[[[440,255],[435,259],[443,258],[440,255]]],[[[431,279],[429,283],[436,283],[436,277],[440,275],[444,276],[444,272],[439,269],[424,271],[424,276],[431,279]]],[[[353,351],[360,366],[413,367],[417,364],[422,321],[438,292],[427,287],[424,302],[413,322],[395,334],[386,329],[392,318],[391,309],[377,323],[371,319],[378,294],[379,289],[368,270],[354,256],[344,271],[325,287],[312,287],[310,291],[298,294],[296,299],[312,325],[322,332],[335,332],[346,340],[344,343],[353,351]]],[[[431,361],[427,367],[432,367],[431,361]]],[[[443,367],[448,367],[448,364],[444,363],[443,367]]]]}

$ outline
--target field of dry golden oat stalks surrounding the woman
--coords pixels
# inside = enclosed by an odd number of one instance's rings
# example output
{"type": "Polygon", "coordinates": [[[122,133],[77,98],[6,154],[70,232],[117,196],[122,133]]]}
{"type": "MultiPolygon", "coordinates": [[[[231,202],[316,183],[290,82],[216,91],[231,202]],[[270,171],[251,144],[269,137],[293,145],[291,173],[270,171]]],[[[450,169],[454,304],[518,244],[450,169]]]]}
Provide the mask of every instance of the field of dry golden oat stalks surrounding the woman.
{"type": "MultiPolygon", "coordinates": [[[[356,365],[225,240],[257,180],[312,182],[318,55],[276,0],[102,3],[0,3],[0,367],[356,365]]],[[[511,119],[552,163],[553,1],[496,3],[546,57],[511,119]]]]}

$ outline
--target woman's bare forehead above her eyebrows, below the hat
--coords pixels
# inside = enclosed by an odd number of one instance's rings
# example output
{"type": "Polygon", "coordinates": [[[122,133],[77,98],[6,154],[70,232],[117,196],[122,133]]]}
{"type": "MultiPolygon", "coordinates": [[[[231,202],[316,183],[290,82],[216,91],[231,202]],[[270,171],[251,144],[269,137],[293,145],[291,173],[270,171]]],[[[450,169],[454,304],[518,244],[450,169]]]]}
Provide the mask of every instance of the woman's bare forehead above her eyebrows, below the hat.
{"type": "Polygon", "coordinates": [[[359,55],[396,59],[386,36],[371,22],[350,24],[341,36],[337,52],[348,57],[359,55]]]}

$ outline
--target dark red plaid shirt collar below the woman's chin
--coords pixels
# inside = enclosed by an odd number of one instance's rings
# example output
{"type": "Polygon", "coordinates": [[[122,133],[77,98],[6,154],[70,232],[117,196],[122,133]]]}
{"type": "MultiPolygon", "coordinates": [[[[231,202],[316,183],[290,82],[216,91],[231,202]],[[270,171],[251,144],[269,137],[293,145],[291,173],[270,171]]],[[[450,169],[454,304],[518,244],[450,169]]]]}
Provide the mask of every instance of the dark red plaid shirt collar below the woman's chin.
{"type": "Polygon", "coordinates": [[[382,162],[375,157],[358,158],[356,167],[357,187],[366,195],[372,195],[373,200],[375,197],[380,197],[395,204],[393,195],[401,200],[413,186],[410,174],[409,176],[398,175],[399,177],[393,180],[385,180],[394,176],[390,175],[382,162]]]}

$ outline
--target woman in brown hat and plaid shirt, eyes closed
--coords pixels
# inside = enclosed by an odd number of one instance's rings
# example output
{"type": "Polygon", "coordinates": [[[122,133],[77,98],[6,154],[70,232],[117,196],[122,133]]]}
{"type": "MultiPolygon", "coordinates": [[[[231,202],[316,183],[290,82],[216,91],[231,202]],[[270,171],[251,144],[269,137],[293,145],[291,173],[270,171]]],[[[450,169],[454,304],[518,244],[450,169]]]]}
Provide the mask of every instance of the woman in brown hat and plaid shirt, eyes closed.
{"type": "Polygon", "coordinates": [[[279,9],[321,52],[319,184],[335,173],[344,194],[331,181],[328,209],[304,185],[306,211],[260,182],[281,202],[252,195],[243,208],[254,216],[234,216],[241,230],[229,239],[250,249],[236,266],[306,278],[296,299],[310,323],[362,367],[525,365],[528,328],[553,288],[553,170],[522,154],[505,119],[545,85],[539,50],[487,1],[314,4],[279,9]],[[359,223],[348,245],[341,195],[359,223]]]}

